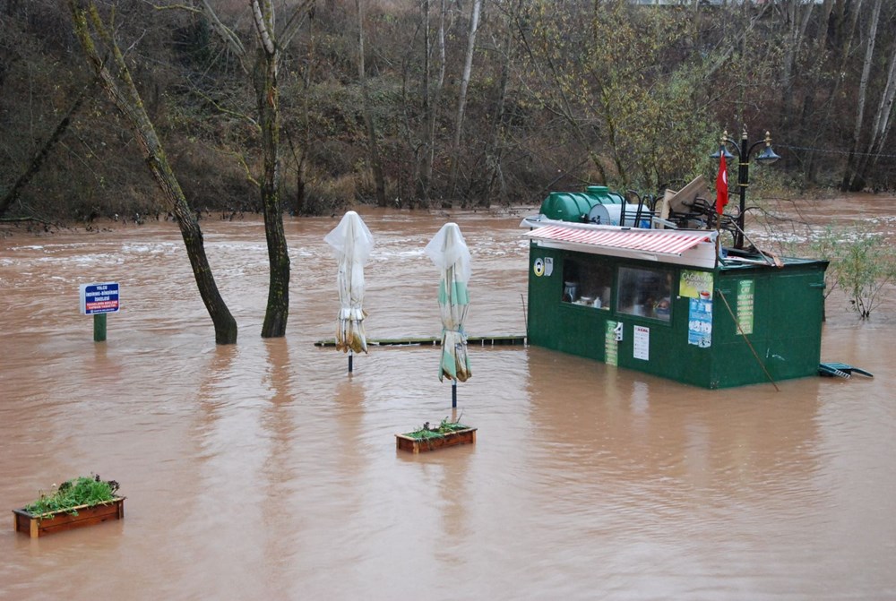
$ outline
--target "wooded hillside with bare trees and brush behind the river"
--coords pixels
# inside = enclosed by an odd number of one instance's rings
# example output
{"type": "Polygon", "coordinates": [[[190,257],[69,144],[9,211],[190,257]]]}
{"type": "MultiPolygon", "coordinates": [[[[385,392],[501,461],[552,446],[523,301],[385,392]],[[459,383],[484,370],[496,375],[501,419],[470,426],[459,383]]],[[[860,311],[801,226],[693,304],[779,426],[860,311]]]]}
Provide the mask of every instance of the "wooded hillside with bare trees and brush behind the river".
{"type": "MultiPolygon", "coordinates": [[[[215,29],[252,47],[250,3],[209,3],[220,23],[199,0],[96,4],[190,206],[262,210],[256,92],[215,29]]],[[[293,215],[660,193],[714,179],[719,136],[744,128],[783,157],[755,184],[896,186],[893,0],[275,4],[300,16],[277,73],[293,215]]],[[[0,0],[0,218],[158,217],[144,161],[65,1],[0,0]]]]}

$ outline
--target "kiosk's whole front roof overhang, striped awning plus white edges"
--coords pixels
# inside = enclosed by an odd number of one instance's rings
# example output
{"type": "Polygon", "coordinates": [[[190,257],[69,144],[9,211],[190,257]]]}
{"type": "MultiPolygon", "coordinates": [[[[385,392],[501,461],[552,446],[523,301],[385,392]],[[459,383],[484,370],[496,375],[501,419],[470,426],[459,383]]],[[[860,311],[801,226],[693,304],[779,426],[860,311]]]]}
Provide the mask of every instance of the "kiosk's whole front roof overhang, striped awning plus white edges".
{"type": "Polygon", "coordinates": [[[544,215],[523,219],[520,226],[531,228],[526,236],[545,248],[706,269],[716,265],[718,234],[714,230],[624,228],[558,221],[544,215]]]}

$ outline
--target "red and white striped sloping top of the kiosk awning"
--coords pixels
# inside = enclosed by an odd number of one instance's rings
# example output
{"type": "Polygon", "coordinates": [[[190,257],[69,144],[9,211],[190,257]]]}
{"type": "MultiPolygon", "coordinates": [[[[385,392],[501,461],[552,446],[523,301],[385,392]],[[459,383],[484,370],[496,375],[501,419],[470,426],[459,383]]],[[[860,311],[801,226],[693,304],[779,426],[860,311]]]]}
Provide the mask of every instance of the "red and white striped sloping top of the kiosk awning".
{"type": "Polygon", "coordinates": [[[710,242],[709,232],[670,229],[597,229],[544,226],[528,232],[527,236],[608,249],[639,251],[681,256],[702,242],[710,242]]]}

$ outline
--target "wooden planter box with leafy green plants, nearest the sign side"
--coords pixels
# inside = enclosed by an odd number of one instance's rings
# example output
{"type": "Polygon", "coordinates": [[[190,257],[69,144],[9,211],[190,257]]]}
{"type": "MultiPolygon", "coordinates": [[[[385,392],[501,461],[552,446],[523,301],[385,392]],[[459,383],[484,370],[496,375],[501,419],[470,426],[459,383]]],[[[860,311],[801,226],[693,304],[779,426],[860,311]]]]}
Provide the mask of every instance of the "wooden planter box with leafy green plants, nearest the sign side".
{"type": "Polygon", "coordinates": [[[118,483],[103,480],[99,475],[66,480],[52,494],[41,492],[36,501],[13,510],[15,529],[33,538],[108,519],[122,519],[125,497],[117,493],[118,483]]]}

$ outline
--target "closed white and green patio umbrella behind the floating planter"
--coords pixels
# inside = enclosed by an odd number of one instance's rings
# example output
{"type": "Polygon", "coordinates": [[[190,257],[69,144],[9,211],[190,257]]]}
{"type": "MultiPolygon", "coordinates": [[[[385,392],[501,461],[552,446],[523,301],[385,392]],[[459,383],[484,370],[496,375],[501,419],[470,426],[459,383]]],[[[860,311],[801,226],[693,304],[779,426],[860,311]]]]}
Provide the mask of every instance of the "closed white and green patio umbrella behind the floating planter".
{"type": "Polygon", "coordinates": [[[439,282],[439,308],[442,313],[442,365],[439,381],[448,376],[466,382],[470,372],[467,356],[467,334],[463,322],[467,317],[470,295],[470,249],[456,223],[446,223],[424,249],[426,255],[442,271],[439,282]]]}

